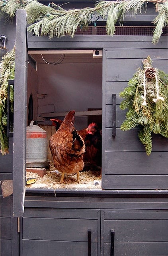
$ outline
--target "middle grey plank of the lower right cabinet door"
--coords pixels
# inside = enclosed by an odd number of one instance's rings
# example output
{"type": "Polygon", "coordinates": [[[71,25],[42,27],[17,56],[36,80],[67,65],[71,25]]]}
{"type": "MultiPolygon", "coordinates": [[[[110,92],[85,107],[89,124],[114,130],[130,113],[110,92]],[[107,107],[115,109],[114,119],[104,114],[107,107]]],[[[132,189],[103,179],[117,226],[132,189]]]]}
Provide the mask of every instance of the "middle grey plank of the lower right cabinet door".
{"type": "Polygon", "coordinates": [[[168,219],[105,220],[104,242],[110,242],[110,228],[115,230],[115,242],[168,242],[168,219]]]}

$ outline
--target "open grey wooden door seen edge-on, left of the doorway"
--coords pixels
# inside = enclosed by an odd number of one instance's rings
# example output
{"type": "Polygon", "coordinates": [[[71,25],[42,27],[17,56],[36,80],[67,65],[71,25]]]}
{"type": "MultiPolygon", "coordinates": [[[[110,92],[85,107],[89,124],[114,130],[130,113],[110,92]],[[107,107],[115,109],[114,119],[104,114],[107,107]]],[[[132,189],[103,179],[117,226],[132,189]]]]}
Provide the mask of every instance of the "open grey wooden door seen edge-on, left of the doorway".
{"type": "Polygon", "coordinates": [[[24,212],[27,117],[27,21],[25,10],[17,10],[14,88],[13,216],[24,212]]]}

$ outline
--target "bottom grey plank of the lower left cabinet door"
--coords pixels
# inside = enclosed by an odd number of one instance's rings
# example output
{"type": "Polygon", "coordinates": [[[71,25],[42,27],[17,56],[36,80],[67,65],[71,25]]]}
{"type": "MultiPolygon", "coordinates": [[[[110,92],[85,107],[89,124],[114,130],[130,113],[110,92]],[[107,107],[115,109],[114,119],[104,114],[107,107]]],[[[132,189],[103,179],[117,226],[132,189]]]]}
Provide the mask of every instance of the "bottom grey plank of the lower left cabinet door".
{"type": "MultiPolygon", "coordinates": [[[[23,255],[32,256],[32,253],[33,256],[86,256],[88,255],[88,242],[23,240],[23,255]]],[[[92,242],[92,256],[99,255],[97,244],[92,242]]]]}

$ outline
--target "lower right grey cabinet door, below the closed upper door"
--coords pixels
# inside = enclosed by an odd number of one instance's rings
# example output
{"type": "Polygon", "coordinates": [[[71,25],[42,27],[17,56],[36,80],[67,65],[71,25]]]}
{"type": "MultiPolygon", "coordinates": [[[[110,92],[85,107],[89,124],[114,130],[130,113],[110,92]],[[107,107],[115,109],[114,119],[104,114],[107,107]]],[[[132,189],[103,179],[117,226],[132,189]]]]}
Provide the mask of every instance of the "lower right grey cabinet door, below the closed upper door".
{"type": "Polygon", "coordinates": [[[102,218],[101,255],[168,255],[167,210],[103,210],[102,218]]]}

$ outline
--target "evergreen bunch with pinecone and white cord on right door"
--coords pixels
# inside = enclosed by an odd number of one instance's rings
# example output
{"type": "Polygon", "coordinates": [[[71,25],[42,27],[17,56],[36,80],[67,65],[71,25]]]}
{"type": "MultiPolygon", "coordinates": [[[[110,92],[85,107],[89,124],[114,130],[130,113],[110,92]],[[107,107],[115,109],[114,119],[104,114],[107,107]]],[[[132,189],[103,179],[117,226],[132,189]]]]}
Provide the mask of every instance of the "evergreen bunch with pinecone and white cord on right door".
{"type": "Polygon", "coordinates": [[[124,98],[121,110],[128,109],[121,130],[138,127],[139,140],[149,156],[152,132],[168,138],[168,74],[153,68],[148,56],[119,96],[124,98]]]}

